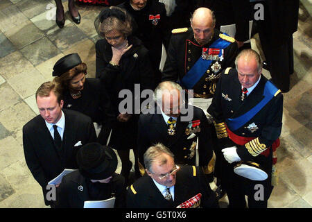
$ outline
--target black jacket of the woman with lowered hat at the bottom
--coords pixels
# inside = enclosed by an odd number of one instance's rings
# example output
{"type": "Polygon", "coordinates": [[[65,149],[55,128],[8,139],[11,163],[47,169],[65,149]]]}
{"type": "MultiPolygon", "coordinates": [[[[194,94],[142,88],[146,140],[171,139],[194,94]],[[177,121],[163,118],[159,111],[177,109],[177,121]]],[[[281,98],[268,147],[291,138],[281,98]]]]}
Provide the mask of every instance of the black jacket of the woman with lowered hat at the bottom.
{"type": "MultiPolygon", "coordinates": [[[[56,207],[83,208],[85,201],[91,200],[86,180],[88,179],[84,178],[79,171],[64,176],[57,189],[56,207]],[[83,187],[83,190],[78,187],[83,187]]],[[[105,199],[114,196],[116,197],[114,207],[125,207],[125,191],[125,178],[114,173],[112,180],[103,189],[103,196],[105,199]]]]}

